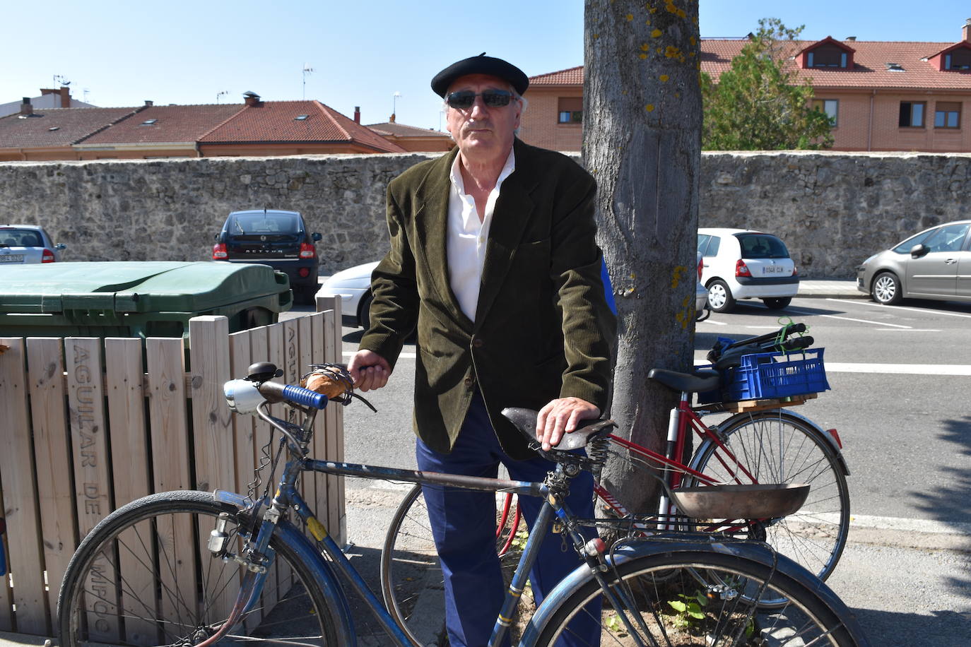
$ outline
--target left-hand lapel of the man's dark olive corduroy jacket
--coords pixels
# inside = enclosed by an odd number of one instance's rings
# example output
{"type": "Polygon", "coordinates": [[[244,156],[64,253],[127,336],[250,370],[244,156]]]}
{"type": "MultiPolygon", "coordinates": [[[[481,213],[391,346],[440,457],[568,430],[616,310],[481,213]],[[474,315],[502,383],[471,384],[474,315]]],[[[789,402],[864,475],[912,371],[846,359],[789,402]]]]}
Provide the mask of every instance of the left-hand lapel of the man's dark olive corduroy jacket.
{"type": "Polygon", "coordinates": [[[417,248],[424,267],[416,268],[434,285],[439,299],[449,309],[455,321],[466,330],[472,330],[472,321],[462,312],[452,292],[449,274],[447,237],[449,232],[449,194],[452,181],[449,178],[452,162],[458,154],[458,146],[452,153],[443,155],[429,170],[419,186],[416,203],[417,248]]]}

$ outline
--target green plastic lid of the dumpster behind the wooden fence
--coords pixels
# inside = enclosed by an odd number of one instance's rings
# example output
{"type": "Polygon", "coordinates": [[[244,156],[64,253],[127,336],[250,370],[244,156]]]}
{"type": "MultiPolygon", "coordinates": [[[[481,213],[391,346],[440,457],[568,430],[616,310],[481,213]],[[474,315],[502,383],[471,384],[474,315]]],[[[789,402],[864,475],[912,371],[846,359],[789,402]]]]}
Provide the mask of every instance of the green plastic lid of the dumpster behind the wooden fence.
{"type": "Polygon", "coordinates": [[[285,275],[220,261],[106,261],[0,270],[0,312],[199,312],[279,294],[285,275]],[[278,276],[279,275],[279,276],[278,276]]]}

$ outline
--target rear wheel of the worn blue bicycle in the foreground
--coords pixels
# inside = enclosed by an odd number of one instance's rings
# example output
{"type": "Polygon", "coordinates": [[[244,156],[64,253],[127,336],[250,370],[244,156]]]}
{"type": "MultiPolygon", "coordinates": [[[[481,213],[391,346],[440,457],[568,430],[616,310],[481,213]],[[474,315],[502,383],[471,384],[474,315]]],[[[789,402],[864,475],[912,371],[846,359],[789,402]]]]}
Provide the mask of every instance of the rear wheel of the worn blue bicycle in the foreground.
{"type": "MultiPolygon", "coordinates": [[[[605,598],[601,612],[601,644],[604,645],[861,647],[865,644],[865,639],[856,639],[859,634],[849,609],[827,601],[826,598],[835,598],[828,590],[827,596],[820,595],[819,590],[825,589],[825,585],[819,583],[818,590],[809,588],[791,576],[783,565],[774,570],[772,566],[739,555],[713,550],[658,551],[622,562],[603,574],[612,592],[622,593],[636,604],[633,614],[629,612],[630,603],[624,606],[630,620],[630,625],[624,626],[619,621],[618,610],[605,598]],[[753,606],[746,599],[746,592],[762,586],[773,595],[787,599],[786,606],[778,610],[753,606]],[[705,599],[704,605],[697,601],[697,596],[705,599]],[[676,610],[670,604],[672,601],[694,601],[697,606],[692,610],[702,617],[694,618],[676,610]],[[679,627],[681,623],[685,626],[679,627]],[[630,629],[638,634],[640,643],[631,639],[630,629]]],[[[552,602],[555,607],[545,614],[548,620],[530,628],[537,635],[532,644],[536,647],[554,644],[569,632],[568,625],[577,614],[587,612],[587,602],[601,595],[600,585],[592,576],[587,576],[571,593],[552,602]]]]}

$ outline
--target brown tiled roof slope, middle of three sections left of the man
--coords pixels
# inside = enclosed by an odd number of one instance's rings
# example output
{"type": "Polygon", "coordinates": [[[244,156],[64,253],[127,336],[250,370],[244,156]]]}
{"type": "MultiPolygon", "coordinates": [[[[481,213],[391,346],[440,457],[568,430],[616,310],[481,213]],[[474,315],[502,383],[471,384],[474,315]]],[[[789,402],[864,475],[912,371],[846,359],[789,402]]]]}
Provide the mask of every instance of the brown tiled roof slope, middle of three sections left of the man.
{"type": "Polygon", "coordinates": [[[243,104],[151,106],[87,138],[84,144],[194,143],[244,108],[243,104]],[[146,123],[151,119],[154,122],[146,123]]]}

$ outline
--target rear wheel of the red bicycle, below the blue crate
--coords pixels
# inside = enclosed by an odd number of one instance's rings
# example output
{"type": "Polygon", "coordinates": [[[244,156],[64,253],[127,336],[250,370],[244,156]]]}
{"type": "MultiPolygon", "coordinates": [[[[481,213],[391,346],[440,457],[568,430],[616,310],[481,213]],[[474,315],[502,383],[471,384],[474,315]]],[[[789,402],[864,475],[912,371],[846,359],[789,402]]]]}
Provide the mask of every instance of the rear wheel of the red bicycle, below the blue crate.
{"type": "MultiPolygon", "coordinates": [[[[812,423],[782,410],[738,414],[719,427],[721,441],[762,483],[808,483],[809,497],[794,513],[750,530],[800,566],[826,579],[839,562],[850,532],[850,491],[830,442],[812,423]]],[[[711,440],[698,447],[691,467],[721,483],[734,483],[711,440]]],[[[737,470],[737,476],[744,476],[737,470]]],[[[743,484],[753,482],[743,479],[743,484]]],[[[686,487],[701,485],[687,477],[686,487]]],[[[753,536],[754,534],[754,536],[753,536]]],[[[780,604],[764,598],[760,604],[780,604]]]]}

